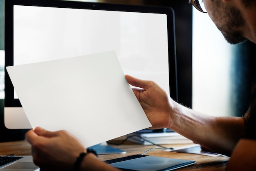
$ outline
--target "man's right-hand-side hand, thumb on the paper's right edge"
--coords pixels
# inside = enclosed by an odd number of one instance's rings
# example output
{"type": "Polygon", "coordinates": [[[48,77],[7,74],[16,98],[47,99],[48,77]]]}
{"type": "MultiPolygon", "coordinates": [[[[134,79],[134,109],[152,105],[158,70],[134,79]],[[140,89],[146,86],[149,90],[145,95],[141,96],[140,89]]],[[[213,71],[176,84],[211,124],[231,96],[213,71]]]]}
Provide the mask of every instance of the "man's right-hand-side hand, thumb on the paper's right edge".
{"type": "Polygon", "coordinates": [[[176,104],[170,96],[153,81],[144,81],[128,75],[126,80],[132,86],[139,87],[132,90],[153,125],[150,129],[170,128],[171,112],[176,104]]]}

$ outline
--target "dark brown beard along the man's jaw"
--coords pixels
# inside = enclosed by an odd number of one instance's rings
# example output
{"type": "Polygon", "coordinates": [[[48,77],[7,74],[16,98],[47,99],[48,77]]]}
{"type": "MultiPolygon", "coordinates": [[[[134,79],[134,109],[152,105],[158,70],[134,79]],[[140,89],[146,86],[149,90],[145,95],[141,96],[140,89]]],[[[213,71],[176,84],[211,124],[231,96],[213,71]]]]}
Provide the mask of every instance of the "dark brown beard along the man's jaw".
{"type": "Polygon", "coordinates": [[[238,44],[246,41],[247,39],[243,36],[243,31],[241,31],[241,28],[245,24],[242,13],[234,7],[226,7],[222,12],[227,14],[225,16],[227,18],[225,24],[216,24],[216,26],[227,42],[238,44]]]}

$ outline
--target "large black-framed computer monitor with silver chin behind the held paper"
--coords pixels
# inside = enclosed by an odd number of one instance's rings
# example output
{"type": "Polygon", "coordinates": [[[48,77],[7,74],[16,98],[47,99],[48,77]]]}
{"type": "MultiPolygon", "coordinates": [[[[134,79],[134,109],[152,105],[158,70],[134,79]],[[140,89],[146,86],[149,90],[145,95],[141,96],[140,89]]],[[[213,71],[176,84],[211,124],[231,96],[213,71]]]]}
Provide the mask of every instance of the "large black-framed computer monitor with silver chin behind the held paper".
{"type": "MultiPolygon", "coordinates": [[[[115,50],[125,74],[153,80],[178,100],[170,7],[6,0],[4,11],[5,67],[115,50]]],[[[4,122],[31,128],[6,70],[4,122]]]]}

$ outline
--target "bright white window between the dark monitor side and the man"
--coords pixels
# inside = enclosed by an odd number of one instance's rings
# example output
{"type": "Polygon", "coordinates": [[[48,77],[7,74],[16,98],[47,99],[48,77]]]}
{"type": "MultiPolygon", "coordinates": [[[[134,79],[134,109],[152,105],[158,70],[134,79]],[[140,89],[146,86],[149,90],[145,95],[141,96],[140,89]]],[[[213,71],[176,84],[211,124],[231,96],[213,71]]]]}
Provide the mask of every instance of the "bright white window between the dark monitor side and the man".
{"type": "Polygon", "coordinates": [[[209,115],[232,115],[231,48],[209,16],[193,9],[193,110],[209,115]]]}

